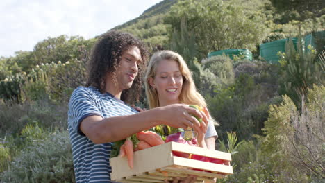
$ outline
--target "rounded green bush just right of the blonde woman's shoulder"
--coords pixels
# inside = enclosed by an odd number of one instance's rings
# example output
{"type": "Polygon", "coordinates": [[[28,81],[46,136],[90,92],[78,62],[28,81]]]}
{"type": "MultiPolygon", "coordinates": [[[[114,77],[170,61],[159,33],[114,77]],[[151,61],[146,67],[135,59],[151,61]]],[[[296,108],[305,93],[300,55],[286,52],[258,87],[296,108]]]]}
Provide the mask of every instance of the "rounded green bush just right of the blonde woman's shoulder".
{"type": "Polygon", "coordinates": [[[240,139],[251,139],[252,134],[260,134],[267,108],[260,107],[272,100],[272,95],[256,85],[246,73],[235,78],[228,87],[216,87],[214,96],[205,96],[210,114],[221,124],[217,129],[219,137],[225,138],[226,131],[235,131],[240,139]],[[265,111],[263,111],[265,110],[265,111]],[[252,116],[260,114],[259,118],[252,116]]]}

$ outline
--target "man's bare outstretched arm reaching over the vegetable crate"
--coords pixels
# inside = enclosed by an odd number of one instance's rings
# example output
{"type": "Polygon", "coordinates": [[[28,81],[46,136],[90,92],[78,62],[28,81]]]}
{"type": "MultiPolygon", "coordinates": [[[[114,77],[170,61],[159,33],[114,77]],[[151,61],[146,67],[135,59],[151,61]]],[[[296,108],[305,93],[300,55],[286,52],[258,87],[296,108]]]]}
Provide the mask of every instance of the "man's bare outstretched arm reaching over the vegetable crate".
{"type": "Polygon", "coordinates": [[[93,143],[107,143],[125,139],[136,132],[148,130],[160,124],[175,128],[194,127],[198,130],[200,123],[190,114],[207,120],[204,114],[202,116],[194,108],[188,107],[188,105],[175,104],[156,107],[138,114],[115,116],[107,119],[103,119],[101,116],[88,116],[81,121],[80,128],[93,143]]]}

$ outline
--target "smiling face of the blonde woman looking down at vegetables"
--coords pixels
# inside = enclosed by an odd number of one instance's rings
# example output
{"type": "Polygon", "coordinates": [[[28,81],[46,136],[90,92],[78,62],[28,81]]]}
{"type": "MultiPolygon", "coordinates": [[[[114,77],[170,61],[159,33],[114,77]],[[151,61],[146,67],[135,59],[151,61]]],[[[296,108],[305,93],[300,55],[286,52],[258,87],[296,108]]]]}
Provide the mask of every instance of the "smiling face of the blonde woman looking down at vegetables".
{"type": "Polygon", "coordinates": [[[156,76],[149,78],[151,87],[158,93],[159,105],[179,103],[183,76],[175,60],[161,60],[156,67],[156,76]]]}

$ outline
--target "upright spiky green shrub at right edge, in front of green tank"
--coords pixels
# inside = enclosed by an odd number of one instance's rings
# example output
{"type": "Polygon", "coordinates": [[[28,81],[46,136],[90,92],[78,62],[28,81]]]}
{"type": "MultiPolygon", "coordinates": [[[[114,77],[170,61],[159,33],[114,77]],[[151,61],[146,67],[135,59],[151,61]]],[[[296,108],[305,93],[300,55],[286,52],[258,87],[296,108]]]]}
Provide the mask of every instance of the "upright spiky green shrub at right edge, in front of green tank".
{"type": "Polygon", "coordinates": [[[279,93],[288,95],[296,105],[301,103],[301,95],[306,96],[308,87],[325,84],[324,62],[316,59],[316,51],[312,47],[304,48],[300,37],[297,49],[290,40],[285,44],[285,53],[280,55],[282,76],[279,93]]]}

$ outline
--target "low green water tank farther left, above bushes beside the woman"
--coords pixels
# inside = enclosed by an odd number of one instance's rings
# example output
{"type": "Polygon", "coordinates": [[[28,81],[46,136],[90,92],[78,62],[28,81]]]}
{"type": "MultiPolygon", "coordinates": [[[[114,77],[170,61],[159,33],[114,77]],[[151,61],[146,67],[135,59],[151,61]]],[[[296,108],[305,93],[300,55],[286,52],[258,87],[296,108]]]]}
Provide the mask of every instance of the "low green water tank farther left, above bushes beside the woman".
{"type": "Polygon", "coordinates": [[[233,59],[233,55],[236,55],[243,59],[253,60],[253,55],[251,54],[251,51],[248,49],[226,49],[226,50],[219,50],[219,51],[213,51],[208,53],[208,58],[217,56],[217,55],[228,55],[229,58],[233,59]]]}

